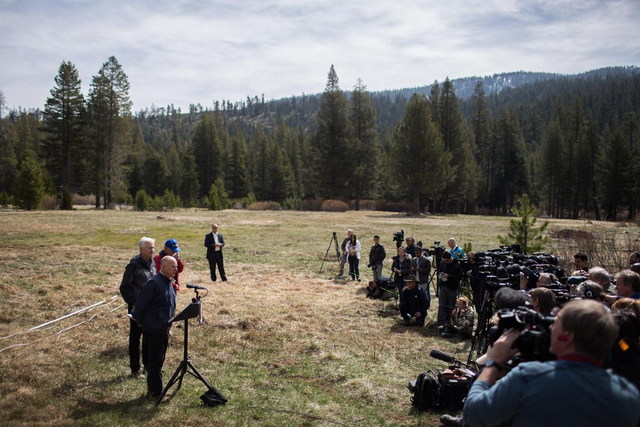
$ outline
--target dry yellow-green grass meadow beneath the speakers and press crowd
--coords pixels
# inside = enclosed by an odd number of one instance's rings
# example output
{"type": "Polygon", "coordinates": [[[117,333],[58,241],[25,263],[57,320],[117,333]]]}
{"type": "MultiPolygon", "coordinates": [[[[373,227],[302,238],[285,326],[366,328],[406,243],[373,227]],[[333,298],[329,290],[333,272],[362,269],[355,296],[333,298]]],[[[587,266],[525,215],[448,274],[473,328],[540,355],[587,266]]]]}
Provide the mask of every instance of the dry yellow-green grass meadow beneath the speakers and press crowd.
{"type": "MultiPolygon", "coordinates": [[[[353,228],[366,258],[373,234],[388,253],[400,229],[426,246],[455,236],[484,250],[497,246],[507,223],[382,212],[2,212],[0,424],[439,425],[439,414],[412,409],[406,383],[445,367],[428,356],[431,349],[466,360],[468,344],[436,334],[435,304],[426,328],[401,326],[392,301],[365,298],[364,281],[336,278],[335,260],[321,273],[320,265],[333,231],[341,242],[353,228]],[[227,242],[227,283],[209,281],[203,240],[212,221],[227,242]],[[157,251],[177,239],[182,282],[209,288],[206,323],[190,327],[190,355],[229,399],[224,406],[203,407],[204,385],[186,376],[182,389],[155,407],[144,400],[145,381],[128,377],[128,320],[117,295],[142,236],[156,238],[157,251]]],[[[608,228],[637,238],[637,227],[614,226],[552,221],[550,229],[608,228]]],[[[366,260],[361,271],[370,277],[366,260]]],[[[178,309],[192,296],[183,290],[178,309]]],[[[182,359],[182,344],[182,329],[174,328],[165,381],[182,359]]]]}

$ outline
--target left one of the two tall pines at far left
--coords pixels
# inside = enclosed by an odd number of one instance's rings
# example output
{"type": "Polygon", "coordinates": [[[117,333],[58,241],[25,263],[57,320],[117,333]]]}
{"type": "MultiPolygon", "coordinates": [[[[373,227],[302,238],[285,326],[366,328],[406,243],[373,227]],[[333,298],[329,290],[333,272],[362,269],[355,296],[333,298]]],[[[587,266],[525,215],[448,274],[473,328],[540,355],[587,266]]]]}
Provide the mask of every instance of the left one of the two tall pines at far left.
{"type": "MultiPolygon", "coordinates": [[[[44,108],[46,163],[62,194],[78,190],[82,180],[84,96],[78,70],[63,61],[55,77],[55,87],[44,108]]],[[[71,205],[62,205],[71,209],[71,205]]]]}

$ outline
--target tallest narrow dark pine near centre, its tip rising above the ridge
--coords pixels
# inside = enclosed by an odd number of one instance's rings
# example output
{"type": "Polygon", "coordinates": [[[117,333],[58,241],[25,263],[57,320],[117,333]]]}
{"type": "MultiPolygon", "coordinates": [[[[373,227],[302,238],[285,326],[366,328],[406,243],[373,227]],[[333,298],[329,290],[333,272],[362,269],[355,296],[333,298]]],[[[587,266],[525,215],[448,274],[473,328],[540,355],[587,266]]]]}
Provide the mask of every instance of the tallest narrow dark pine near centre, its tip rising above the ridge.
{"type": "Polygon", "coordinates": [[[347,98],[340,89],[333,65],[317,113],[316,167],[321,195],[327,198],[345,197],[352,173],[349,158],[350,123],[347,98]]]}

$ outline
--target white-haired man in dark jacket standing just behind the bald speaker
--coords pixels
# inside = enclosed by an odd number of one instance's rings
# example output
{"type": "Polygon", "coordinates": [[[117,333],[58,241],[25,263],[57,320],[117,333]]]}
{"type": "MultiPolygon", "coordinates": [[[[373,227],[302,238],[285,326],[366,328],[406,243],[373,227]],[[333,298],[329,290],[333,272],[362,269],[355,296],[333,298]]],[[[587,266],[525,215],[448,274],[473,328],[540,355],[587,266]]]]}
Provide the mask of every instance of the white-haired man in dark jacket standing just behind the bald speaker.
{"type": "MultiPolygon", "coordinates": [[[[156,274],[156,266],[153,263],[153,252],[155,250],[155,240],[143,237],[138,242],[140,253],[129,261],[129,265],[124,270],[122,282],[120,283],[120,294],[127,303],[128,313],[131,313],[136,303],[138,295],[142,291],[144,284],[156,274]]],[[[131,376],[140,377],[140,337],[142,329],[133,320],[129,321],[129,367],[131,376]]],[[[144,349],[142,351],[142,363],[146,366],[144,349]]]]}

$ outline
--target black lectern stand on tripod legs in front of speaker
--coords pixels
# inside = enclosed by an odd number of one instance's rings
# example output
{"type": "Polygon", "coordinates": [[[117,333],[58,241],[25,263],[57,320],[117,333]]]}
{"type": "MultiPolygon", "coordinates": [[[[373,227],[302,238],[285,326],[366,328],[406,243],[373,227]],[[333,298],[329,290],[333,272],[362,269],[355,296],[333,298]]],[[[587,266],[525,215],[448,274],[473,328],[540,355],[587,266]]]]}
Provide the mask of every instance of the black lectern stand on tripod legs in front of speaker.
{"type": "Polygon", "coordinates": [[[214,386],[209,384],[207,380],[198,372],[193,363],[191,363],[191,358],[189,357],[189,319],[193,319],[194,317],[199,317],[202,309],[202,305],[200,300],[192,302],[189,304],[184,310],[182,310],[179,314],[174,316],[169,320],[169,323],[179,322],[184,320],[184,353],[182,357],[182,362],[180,362],[180,366],[174,372],[173,376],[158,396],[156,400],[156,406],[160,404],[162,398],[167,394],[169,389],[177,382],[178,388],[176,392],[180,390],[182,387],[182,378],[184,374],[190,374],[191,376],[199,379],[204,385],[207,386],[208,391],[205,393],[206,399],[202,398],[202,400],[208,406],[214,406],[215,404],[225,404],[228,400],[220,393],[214,386]]]}

